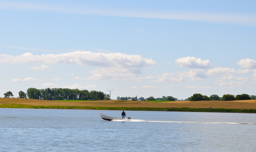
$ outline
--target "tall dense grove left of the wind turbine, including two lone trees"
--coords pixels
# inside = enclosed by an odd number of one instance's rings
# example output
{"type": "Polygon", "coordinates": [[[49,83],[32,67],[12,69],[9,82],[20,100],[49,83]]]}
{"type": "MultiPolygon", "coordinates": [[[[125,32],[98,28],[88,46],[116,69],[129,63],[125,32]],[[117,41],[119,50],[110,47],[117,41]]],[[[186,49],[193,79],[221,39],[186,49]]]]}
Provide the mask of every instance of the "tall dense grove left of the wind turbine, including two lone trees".
{"type": "MultiPolygon", "coordinates": [[[[4,93],[5,97],[12,97],[12,92],[4,93]]],[[[110,100],[110,95],[101,91],[88,91],[68,88],[29,88],[27,93],[20,91],[19,98],[40,99],[40,100],[110,100]]]]}

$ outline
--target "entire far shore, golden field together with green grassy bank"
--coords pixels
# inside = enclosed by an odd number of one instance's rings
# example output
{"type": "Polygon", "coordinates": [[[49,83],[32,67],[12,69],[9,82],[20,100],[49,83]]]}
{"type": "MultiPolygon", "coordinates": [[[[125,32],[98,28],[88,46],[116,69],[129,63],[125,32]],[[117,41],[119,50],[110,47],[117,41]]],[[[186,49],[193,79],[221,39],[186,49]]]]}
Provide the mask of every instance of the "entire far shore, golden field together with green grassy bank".
{"type": "Polygon", "coordinates": [[[189,111],[256,113],[256,100],[147,102],[126,100],[49,101],[0,98],[1,108],[51,108],[91,110],[189,111]]]}

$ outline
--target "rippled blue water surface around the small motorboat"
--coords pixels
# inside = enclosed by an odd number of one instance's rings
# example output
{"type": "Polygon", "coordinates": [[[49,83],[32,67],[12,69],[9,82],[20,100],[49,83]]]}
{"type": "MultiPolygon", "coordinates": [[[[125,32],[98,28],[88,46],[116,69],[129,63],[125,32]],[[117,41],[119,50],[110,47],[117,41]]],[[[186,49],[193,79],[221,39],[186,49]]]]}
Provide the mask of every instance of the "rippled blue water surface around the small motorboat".
{"type": "Polygon", "coordinates": [[[255,151],[256,114],[0,109],[0,151],[255,151]]]}

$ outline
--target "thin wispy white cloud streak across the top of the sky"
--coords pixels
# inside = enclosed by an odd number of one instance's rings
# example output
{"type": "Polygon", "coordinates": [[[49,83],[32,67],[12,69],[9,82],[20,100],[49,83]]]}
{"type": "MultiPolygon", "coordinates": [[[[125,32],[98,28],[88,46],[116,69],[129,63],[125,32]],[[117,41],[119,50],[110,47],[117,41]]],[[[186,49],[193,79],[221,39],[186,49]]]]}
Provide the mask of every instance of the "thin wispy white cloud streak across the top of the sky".
{"type": "Polygon", "coordinates": [[[68,3],[22,3],[22,2],[1,2],[0,9],[25,10],[33,12],[55,12],[64,14],[136,17],[136,18],[160,18],[175,20],[192,20],[216,23],[237,23],[243,25],[255,25],[256,17],[251,14],[227,14],[227,13],[204,13],[191,11],[142,11],[136,9],[109,9],[95,7],[89,4],[68,4],[68,3]]]}

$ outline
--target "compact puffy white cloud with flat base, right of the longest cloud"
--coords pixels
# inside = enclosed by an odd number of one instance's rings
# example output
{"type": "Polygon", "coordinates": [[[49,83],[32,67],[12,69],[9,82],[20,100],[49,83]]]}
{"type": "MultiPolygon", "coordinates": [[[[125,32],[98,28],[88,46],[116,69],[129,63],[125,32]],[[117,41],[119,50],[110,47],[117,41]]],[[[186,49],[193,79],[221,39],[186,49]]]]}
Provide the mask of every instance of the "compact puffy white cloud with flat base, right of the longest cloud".
{"type": "Polygon", "coordinates": [[[176,59],[175,62],[180,67],[202,68],[202,69],[211,68],[210,60],[202,60],[201,58],[184,57],[184,58],[176,59]]]}

